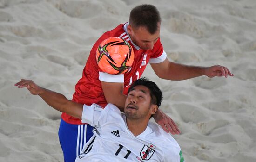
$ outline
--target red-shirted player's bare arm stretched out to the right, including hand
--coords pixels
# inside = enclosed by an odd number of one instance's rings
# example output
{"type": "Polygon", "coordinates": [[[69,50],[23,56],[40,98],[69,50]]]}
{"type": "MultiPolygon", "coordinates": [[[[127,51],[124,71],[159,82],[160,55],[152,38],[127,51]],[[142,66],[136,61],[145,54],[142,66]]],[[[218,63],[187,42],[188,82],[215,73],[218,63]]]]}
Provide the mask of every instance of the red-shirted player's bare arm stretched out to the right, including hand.
{"type": "Polygon", "coordinates": [[[215,76],[234,76],[227,67],[214,65],[211,67],[199,67],[199,66],[188,66],[175,62],[170,62],[168,58],[161,63],[150,64],[155,74],[168,80],[185,80],[202,75],[206,75],[210,78],[215,76]]]}

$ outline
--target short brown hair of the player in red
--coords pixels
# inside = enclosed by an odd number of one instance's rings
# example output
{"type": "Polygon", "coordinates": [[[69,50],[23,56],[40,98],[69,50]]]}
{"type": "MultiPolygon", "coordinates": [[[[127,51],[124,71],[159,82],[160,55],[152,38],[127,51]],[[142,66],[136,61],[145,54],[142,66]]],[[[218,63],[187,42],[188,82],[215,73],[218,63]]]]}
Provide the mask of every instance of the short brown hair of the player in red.
{"type": "Polygon", "coordinates": [[[130,25],[135,28],[146,27],[150,34],[155,34],[157,23],[161,22],[160,13],[153,5],[136,6],[130,12],[130,25]]]}

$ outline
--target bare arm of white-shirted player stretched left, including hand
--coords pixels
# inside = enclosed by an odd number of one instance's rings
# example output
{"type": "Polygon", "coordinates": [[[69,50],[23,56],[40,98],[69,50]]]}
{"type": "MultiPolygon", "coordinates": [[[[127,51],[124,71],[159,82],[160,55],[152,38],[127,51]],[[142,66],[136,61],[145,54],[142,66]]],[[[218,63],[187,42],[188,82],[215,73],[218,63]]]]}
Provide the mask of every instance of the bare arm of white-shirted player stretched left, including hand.
{"type": "Polygon", "coordinates": [[[18,88],[27,87],[31,94],[39,95],[49,106],[60,112],[66,112],[75,118],[81,119],[82,117],[82,104],[67,100],[67,98],[60,93],[39,87],[34,81],[21,79],[21,81],[14,84],[14,86],[18,86],[18,88]]]}

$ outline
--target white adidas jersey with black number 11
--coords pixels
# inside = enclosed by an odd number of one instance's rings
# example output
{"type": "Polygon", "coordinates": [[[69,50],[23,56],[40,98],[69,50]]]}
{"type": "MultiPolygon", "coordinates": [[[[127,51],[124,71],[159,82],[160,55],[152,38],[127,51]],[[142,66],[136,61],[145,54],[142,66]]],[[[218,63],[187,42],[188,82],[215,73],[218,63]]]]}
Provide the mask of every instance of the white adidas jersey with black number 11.
{"type": "Polygon", "coordinates": [[[105,109],[84,105],[82,123],[94,126],[93,137],[86,143],[76,162],[184,162],[179,144],[155,123],[134,136],[126,117],[113,104],[105,109]]]}

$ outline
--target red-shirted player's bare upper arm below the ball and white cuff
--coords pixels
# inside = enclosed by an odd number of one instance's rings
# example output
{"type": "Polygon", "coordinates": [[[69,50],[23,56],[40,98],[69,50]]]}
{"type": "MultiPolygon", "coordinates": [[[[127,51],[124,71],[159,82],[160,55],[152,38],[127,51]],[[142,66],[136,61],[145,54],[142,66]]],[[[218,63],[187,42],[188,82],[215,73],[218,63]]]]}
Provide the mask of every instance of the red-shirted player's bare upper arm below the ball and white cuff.
{"type": "Polygon", "coordinates": [[[124,112],[124,103],[127,96],[123,94],[123,83],[101,81],[101,87],[107,102],[114,104],[121,112],[124,112]]]}

